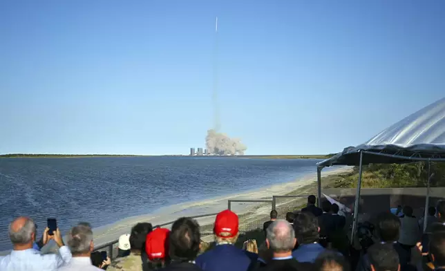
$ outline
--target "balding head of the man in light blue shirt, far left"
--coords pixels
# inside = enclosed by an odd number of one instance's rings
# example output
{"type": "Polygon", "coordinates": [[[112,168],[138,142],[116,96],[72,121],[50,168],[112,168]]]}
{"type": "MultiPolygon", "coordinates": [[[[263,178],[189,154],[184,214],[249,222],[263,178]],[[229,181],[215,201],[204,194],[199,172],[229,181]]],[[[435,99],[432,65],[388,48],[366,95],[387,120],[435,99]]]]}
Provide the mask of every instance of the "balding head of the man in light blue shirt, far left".
{"type": "Polygon", "coordinates": [[[14,245],[34,242],[35,223],[31,218],[20,216],[9,225],[9,238],[14,245]]]}

